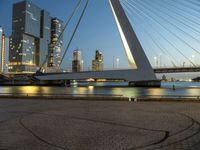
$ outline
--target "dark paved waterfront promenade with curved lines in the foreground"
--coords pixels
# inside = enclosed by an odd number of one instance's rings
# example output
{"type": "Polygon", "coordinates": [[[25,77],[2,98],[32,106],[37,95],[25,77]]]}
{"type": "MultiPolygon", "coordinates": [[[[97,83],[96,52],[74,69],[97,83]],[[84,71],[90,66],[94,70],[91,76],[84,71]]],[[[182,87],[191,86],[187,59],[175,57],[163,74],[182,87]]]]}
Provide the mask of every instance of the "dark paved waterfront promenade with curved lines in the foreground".
{"type": "Polygon", "coordinates": [[[0,99],[0,150],[199,150],[200,103],[0,99]]]}

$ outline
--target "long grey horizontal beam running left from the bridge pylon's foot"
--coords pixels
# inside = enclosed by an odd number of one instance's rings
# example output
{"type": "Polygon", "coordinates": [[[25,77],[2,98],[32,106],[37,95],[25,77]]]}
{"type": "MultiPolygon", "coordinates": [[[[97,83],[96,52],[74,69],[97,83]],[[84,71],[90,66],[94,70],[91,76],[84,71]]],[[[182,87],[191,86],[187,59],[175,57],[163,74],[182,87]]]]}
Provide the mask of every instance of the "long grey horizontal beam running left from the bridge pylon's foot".
{"type": "Polygon", "coordinates": [[[157,80],[156,76],[148,76],[148,70],[141,73],[138,70],[107,70],[107,71],[85,71],[71,73],[47,73],[35,76],[39,80],[84,80],[84,79],[120,79],[126,81],[149,81],[157,80]]]}

